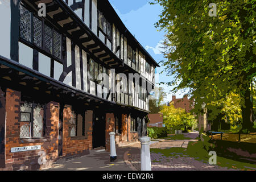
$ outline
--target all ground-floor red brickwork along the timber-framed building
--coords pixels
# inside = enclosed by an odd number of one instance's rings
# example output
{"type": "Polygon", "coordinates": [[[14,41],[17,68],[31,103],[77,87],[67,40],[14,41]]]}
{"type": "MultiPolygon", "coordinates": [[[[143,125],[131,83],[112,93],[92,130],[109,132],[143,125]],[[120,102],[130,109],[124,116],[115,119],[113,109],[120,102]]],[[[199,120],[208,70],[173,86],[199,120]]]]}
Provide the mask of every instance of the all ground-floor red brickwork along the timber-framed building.
{"type": "MultiPolygon", "coordinates": [[[[21,92],[7,88],[0,89],[0,129],[1,129],[1,170],[35,170],[52,165],[59,158],[59,125],[60,104],[50,101],[46,104],[45,137],[37,139],[20,139],[20,102],[21,92]],[[5,96],[6,95],[6,96],[5,96]],[[6,126],[6,128],[5,128],[6,126]],[[6,133],[2,131],[5,131],[6,133]],[[5,135],[6,134],[6,137],[5,135]],[[3,136],[2,136],[3,135],[3,136]],[[6,144],[5,144],[6,142],[6,144]],[[40,150],[11,152],[13,147],[41,146],[40,150]],[[45,157],[46,162],[41,159],[45,157]]],[[[61,157],[88,154],[92,150],[93,111],[85,110],[84,137],[71,137],[72,106],[65,105],[63,109],[63,147],[61,157]]],[[[122,134],[115,135],[115,141],[135,142],[139,138],[138,132],[131,132],[131,116],[122,114],[122,134]]],[[[77,127],[81,128],[79,124],[77,127]]],[[[110,151],[109,133],[115,131],[115,117],[113,113],[106,113],[106,151],[110,151]]],[[[80,131],[81,132],[81,131],[80,131]]],[[[81,134],[79,134],[81,135],[81,134]]]]}

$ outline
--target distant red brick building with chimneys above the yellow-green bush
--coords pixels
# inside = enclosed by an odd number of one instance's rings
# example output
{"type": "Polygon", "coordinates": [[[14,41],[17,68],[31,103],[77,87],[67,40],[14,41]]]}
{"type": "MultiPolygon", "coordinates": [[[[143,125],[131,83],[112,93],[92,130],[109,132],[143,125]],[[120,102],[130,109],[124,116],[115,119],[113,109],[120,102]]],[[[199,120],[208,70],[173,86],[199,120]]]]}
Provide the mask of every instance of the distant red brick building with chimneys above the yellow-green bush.
{"type": "Polygon", "coordinates": [[[193,101],[188,99],[188,95],[184,95],[183,98],[176,98],[176,96],[172,96],[172,102],[174,103],[174,107],[185,109],[187,113],[193,109],[193,101]]]}

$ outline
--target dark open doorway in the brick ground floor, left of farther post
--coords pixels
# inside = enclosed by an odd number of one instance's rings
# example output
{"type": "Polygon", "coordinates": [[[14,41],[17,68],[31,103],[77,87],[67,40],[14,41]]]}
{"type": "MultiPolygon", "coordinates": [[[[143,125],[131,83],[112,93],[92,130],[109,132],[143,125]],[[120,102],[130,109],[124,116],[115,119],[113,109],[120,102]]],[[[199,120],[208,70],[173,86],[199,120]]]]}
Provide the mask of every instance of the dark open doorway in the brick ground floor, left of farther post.
{"type": "Polygon", "coordinates": [[[105,113],[93,112],[93,148],[106,146],[106,118],[105,113]]]}

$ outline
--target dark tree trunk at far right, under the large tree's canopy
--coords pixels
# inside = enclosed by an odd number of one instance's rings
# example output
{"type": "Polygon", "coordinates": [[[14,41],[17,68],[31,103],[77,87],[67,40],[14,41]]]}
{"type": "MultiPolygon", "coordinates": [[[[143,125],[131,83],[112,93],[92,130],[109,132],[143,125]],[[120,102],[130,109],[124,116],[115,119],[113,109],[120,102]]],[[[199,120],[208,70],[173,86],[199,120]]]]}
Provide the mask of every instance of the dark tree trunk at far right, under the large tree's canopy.
{"type": "Polygon", "coordinates": [[[242,130],[251,131],[253,129],[253,105],[251,103],[251,92],[249,87],[245,90],[245,94],[241,94],[244,99],[244,104],[241,105],[242,109],[242,130]]]}

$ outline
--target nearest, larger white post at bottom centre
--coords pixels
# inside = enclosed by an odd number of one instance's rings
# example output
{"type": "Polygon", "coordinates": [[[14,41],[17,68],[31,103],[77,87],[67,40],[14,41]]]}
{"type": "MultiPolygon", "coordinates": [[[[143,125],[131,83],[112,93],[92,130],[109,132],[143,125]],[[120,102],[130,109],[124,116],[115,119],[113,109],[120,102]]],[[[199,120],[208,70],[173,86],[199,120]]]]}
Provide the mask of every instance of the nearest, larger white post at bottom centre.
{"type": "Polygon", "coordinates": [[[141,171],[151,171],[150,137],[141,137],[141,171]]]}

